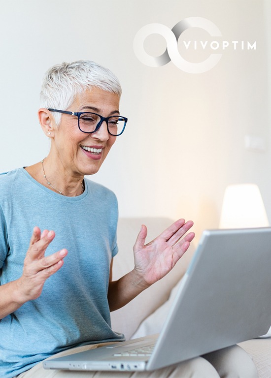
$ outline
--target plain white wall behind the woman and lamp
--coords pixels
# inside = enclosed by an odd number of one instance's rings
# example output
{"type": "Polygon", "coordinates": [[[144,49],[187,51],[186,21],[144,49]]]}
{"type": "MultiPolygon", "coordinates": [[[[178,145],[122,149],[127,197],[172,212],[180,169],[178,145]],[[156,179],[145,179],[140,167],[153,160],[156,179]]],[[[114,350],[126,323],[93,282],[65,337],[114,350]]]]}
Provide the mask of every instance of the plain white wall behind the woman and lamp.
{"type": "MultiPolygon", "coordinates": [[[[0,171],[48,152],[36,117],[46,69],[90,59],[112,69],[123,87],[127,130],[93,177],[116,192],[121,216],[193,219],[199,236],[218,226],[225,187],[253,182],[271,221],[270,24],[269,0],[0,1],[0,171]],[[223,39],[256,40],[257,49],[229,49],[202,74],[138,61],[133,40],[142,26],[171,29],[192,16],[215,23],[223,39]],[[265,150],[246,150],[245,135],[262,137],[265,150]]],[[[146,49],[159,55],[165,40],[152,38],[146,49]]]]}

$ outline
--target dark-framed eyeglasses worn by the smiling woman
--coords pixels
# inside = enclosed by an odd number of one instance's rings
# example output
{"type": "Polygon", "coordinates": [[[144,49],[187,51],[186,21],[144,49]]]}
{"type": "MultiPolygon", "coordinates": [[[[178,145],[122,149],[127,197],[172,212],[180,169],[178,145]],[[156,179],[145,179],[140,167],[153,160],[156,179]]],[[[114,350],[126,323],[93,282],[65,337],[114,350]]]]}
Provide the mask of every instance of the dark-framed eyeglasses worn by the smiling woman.
{"type": "Polygon", "coordinates": [[[82,132],[91,134],[101,127],[103,121],[106,122],[107,130],[110,135],[121,135],[125,129],[128,118],[122,116],[102,117],[100,114],[88,112],[68,112],[66,110],[58,110],[49,108],[50,112],[58,112],[76,116],[78,118],[78,127],[82,132]]]}

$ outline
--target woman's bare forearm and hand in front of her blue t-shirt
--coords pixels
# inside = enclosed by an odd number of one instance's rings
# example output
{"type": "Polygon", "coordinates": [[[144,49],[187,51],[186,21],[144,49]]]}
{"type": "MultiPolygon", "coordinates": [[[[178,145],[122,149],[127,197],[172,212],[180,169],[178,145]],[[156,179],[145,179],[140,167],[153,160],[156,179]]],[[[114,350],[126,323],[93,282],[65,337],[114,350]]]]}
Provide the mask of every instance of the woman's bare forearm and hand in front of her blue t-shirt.
{"type": "Polygon", "coordinates": [[[40,229],[34,227],[22,277],[0,285],[0,319],[17,310],[25,302],[38,298],[47,278],[63,266],[67,250],[44,257],[46,248],[54,237],[54,231],[44,230],[41,234],[40,229]]]}

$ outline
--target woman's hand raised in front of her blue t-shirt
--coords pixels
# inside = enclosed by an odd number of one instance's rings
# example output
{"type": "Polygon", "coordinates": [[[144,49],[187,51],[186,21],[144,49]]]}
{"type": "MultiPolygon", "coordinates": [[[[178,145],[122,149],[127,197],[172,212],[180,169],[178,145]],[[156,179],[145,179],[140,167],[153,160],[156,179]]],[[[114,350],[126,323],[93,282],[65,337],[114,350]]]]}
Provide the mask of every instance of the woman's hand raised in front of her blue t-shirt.
{"type": "Polygon", "coordinates": [[[34,227],[24,260],[23,274],[17,280],[18,293],[23,303],[38,298],[45,281],[64,264],[63,258],[68,254],[66,249],[44,256],[54,237],[54,231],[44,230],[41,233],[38,227],[34,227]]]}

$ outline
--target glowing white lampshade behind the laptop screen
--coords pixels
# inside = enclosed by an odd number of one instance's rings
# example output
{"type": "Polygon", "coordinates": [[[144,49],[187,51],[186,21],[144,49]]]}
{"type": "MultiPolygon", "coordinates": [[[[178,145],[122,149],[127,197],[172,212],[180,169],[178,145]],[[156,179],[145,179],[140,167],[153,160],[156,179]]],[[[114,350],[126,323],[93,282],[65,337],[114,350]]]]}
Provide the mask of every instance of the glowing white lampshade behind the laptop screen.
{"type": "Polygon", "coordinates": [[[268,226],[264,202],[257,185],[240,184],[226,188],[219,228],[268,226]]]}

